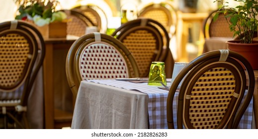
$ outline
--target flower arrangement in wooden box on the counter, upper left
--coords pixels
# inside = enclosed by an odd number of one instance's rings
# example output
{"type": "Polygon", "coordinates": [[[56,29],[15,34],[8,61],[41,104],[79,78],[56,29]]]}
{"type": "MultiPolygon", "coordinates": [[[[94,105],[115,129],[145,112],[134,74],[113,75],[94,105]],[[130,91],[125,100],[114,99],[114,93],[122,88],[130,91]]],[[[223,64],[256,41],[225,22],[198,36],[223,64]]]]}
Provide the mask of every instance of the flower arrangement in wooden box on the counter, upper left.
{"type": "Polygon", "coordinates": [[[15,3],[18,5],[15,19],[34,23],[44,37],[66,37],[68,20],[65,12],[56,11],[58,0],[15,0],[15,3]]]}

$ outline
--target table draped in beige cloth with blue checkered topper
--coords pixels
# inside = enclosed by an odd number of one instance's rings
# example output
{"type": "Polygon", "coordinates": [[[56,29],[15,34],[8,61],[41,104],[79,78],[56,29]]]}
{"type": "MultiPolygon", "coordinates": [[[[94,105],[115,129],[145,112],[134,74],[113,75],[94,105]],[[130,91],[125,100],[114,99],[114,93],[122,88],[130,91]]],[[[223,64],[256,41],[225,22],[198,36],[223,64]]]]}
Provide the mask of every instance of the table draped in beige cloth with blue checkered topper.
{"type": "MultiPolygon", "coordinates": [[[[146,82],[133,83],[115,79],[81,81],[71,128],[167,129],[167,95],[168,90],[148,86],[146,82]]],[[[176,93],[174,105],[177,103],[177,95],[176,93]]],[[[173,107],[173,113],[176,113],[176,108],[173,107]]],[[[253,100],[240,121],[239,128],[251,129],[252,118],[253,100]]],[[[177,121],[176,114],[174,121],[177,121]]]]}

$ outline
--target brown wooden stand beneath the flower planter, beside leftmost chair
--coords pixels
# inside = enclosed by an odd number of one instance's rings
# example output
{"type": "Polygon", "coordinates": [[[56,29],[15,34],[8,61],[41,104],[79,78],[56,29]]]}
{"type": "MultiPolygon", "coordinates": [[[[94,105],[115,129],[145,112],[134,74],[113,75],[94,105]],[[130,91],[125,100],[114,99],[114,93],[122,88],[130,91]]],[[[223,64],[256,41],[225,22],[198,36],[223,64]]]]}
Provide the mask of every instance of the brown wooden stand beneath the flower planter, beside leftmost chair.
{"type": "MultiPolygon", "coordinates": [[[[46,56],[43,63],[45,98],[44,128],[46,129],[61,128],[55,126],[55,119],[58,119],[59,116],[56,115],[59,113],[55,113],[55,107],[58,107],[59,110],[65,110],[64,113],[63,111],[62,113],[69,115],[70,119],[72,117],[72,93],[66,79],[65,61],[69,48],[77,38],[78,37],[67,35],[66,38],[44,39],[46,45],[46,56]],[[63,101],[65,102],[62,103],[63,101]]],[[[63,114],[60,116],[62,117],[63,114]]]]}

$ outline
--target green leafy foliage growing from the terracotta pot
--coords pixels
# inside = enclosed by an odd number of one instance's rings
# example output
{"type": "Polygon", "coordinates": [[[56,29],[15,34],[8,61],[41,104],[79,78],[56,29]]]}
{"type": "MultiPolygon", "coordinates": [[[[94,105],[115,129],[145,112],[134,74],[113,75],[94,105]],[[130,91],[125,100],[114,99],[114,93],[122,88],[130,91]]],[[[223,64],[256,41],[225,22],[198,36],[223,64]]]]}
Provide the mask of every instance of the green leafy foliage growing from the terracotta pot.
{"type": "Polygon", "coordinates": [[[221,7],[213,17],[216,21],[218,14],[223,13],[228,18],[228,24],[234,36],[238,36],[241,43],[252,43],[258,28],[258,0],[231,0],[242,4],[230,7],[228,2],[216,0],[221,3],[221,7]]]}

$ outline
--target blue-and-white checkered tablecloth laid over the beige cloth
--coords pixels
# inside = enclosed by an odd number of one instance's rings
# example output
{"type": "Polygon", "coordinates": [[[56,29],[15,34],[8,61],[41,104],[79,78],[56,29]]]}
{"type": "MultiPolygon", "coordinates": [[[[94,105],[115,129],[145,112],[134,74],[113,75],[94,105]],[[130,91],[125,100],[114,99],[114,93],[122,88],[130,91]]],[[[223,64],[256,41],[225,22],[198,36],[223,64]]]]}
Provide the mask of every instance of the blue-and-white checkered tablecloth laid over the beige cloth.
{"type": "MultiPolygon", "coordinates": [[[[167,129],[167,96],[168,90],[160,89],[157,86],[147,85],[147,82],[134,83],[129,81],[121,81],[115,79],[104,80],[87,80],[95,83],[106,84],[114,87],[124,88],[128,90],[140,91],[148,94],[148,114],[149,114],[149,129],[167,129]]],[[[170,84],[168,84],[170,85],[170,84]]],[[[173,101],[174,125],[177,128],[177,100],[178,93],[175,94],[173,101]]],[[[253,119],[253,99],[249,104],[245,114],[243,115],[239,129],[251,129],[253,119]]]]}

